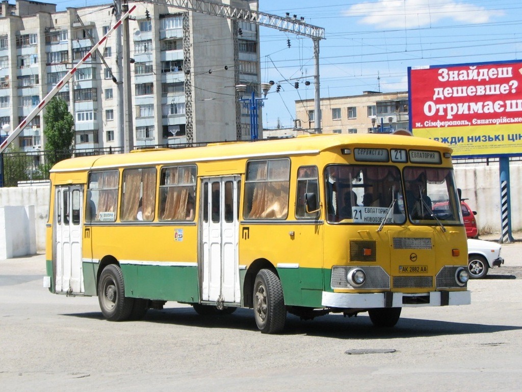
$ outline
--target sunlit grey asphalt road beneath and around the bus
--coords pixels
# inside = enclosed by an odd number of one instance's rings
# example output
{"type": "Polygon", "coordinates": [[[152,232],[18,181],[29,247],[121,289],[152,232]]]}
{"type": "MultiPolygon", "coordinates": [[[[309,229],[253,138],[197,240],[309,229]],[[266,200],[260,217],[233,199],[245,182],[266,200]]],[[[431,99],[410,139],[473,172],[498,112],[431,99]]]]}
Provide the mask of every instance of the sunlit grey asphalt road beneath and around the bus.
{"type": "Polygon", "coordinates": [[[105,321],[98,298],[43,289],[43,255],[0,260],[0,388],[518,391],[522,242],[502,256],[505,266],[469,283],[469,306],[405,308],[389,330],[366,315],[289,316],[273,336],[248,309],[205,318],[167,303],[143,321],[105,321]]]}

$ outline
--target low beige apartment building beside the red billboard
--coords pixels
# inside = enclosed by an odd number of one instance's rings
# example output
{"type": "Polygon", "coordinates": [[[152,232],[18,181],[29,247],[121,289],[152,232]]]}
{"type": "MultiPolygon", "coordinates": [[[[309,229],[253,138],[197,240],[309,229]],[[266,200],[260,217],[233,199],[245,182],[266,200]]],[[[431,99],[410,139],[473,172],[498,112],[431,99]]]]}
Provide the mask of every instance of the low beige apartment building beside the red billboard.
{"type": "MultiPolygon", "coordinates": [[[[313,132],[314,100],[295,101],[295,129],[313,132]]],[[[323,133],[391,133],[409,129],[408,91],[321,98],[323,133]]]]}

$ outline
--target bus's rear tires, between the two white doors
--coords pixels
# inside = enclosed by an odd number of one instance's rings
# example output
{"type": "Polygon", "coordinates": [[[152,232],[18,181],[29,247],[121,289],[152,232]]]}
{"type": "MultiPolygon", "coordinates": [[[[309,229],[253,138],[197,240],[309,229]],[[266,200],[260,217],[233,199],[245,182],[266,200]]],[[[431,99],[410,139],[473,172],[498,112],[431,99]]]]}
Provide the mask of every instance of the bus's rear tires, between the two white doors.
{"type": "Polygon", "coordinates": [[[125,297],[122,270],[115,264],[109,264],[101,272],[98,302],[101,313],[109,321],[127,320],[131,315],[134,298],[125,297]]]}

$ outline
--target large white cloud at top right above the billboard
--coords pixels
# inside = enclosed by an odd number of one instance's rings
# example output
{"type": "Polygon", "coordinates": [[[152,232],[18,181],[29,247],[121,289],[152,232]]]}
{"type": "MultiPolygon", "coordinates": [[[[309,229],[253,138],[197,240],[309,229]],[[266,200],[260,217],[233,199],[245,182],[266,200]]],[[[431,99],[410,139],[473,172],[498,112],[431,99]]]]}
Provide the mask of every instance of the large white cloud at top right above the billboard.
{"type": "Polygon", "coordinates": [[[344,15],[361,18],[365,25],[405,28],[433,26],[443,19],[479,24],[504,13],[455,0],[378,0],[355,4],[344,15]]]}

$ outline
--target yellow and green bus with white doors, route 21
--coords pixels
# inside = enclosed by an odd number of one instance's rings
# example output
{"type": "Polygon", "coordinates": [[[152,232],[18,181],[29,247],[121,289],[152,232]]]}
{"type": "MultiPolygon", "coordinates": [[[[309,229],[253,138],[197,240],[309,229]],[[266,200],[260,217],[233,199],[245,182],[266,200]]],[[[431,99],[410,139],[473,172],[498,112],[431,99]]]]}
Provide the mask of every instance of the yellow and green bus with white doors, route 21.
{"type": "Polygon", "coordinates": [[[175,301],[253,308],[265,333],[287,313],[392,327],[402,307],[469,304],[451,153],[320,134],[67,159],[51,170],[44,283],[97,295],[109,320],[175,301]]]}

